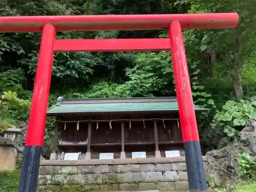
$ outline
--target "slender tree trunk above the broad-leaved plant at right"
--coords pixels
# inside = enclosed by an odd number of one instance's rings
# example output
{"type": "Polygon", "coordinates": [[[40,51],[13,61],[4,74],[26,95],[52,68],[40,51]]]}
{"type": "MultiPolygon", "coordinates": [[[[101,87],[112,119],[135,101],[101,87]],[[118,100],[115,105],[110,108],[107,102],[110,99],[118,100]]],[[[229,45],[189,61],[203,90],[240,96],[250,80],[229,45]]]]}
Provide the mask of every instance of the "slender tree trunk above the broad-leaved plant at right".
{"type": "Polygon", "coordinates": [[[237,100],[240,100],[244,97],[240,69],[233,68],[231,70],[231,79],[232,79],[234,93],[236,94],[236,98],[237,100]]]}

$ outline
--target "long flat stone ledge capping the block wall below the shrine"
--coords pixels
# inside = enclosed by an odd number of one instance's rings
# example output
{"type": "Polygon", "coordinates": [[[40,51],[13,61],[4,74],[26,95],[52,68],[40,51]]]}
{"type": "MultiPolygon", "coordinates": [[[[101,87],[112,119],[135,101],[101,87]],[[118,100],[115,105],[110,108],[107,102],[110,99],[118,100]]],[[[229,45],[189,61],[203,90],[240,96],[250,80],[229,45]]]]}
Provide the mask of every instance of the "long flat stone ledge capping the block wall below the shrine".
{"type": "MultiPolygon", "coordinates": [[[[203,161],[207,161],[205,156],[203,161]]],[[[117,164],[147,164],[147,163],[179,163],[185,162],[185,157],[172,158],[136,158],[136,159],[91,159],[91,160],[41,160],[41,166],[76,166],[76,165],[117,165],[117,164]]]]}

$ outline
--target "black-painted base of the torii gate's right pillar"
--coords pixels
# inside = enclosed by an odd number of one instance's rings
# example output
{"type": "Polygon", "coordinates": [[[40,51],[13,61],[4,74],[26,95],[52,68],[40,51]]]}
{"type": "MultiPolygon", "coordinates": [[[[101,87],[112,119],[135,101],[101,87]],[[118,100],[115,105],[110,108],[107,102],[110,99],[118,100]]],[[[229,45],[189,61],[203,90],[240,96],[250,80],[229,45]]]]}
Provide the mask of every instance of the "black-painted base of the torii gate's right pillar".
{"type": "Polygon", "coordinates": [[[184,142],[189,191],[207,191],[200,141],[184,142]]]}

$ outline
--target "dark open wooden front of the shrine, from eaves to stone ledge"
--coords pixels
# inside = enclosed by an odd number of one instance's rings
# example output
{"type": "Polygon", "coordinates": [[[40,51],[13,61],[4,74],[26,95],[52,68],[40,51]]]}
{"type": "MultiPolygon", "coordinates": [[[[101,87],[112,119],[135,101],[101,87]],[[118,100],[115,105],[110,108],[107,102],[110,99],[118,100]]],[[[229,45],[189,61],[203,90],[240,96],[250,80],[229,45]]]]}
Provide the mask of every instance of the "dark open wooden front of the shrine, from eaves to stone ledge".
{"type": "MultiPolygon", "coordinates": [[[[162,115],[166,120],[155,120],[157,125],[158,146],[161,156],[165,157],[165,151],[181,150],[183,151],[181,131],[177,119],[172,119],[168,115],[162,115]]],[[[140,119],[133,116],[134,119],[129,120],[129,117],[117,117],[125,119],[124,125],[124,151],[126,158],[132,157],[132,152],[146,152],[147,157],[155,157],[156,140],[154,120],[140,119]]],[[[151,115],[151,118],[154,116],[151,115]]],[[[158,118],[158,117],[155,117],[158,118]]],[[[121,121],[102,116],[102,119],[93,117],[73,117],[61,118],[58,123],[58,138],[57,147],[59,152],[86,153],[90,150],[92,159],[99,159],[99,153],[114,153],[114,158],[120,158],[122,151],[122,129],[121,121]],[[66,122],[76,121],[77,122],[66,122]],[[82,120],[90,119],[91,121],[91,137],[88,139],[89,122],[82,122],[82,120]],[[111,120],[112,119],[112,120],[111,120]],[[96,122],[98,120],[98,122],[96,122]],[[104,120],[100,121],[100,120],[104,120]],[[66,124],[66,125],[65,125],[66,124]],[[88,141],[90,140],[90,147],[88,141]],[[63,143],[64,141],[64,143],[63,143]],[[61,143],[62,142],[62,143],[61,143]],[[68,143],[68,145],[66,144],[68,143]]],[[[181,156],[183,156],[181,154],[181,156]]]]}

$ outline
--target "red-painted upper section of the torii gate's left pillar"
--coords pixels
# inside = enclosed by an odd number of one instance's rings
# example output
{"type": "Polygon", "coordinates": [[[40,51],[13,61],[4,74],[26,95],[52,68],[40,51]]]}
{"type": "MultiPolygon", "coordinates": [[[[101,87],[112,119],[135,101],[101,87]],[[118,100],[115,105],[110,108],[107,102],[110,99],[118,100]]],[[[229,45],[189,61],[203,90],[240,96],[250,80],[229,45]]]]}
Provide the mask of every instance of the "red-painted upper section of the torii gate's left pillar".
{"type": "Polygon", "coordinates": [[[29,125],[26,137],[26,146],[42,146],[45,133],[45,122],[48,95],[50,90],[53,45],[56,39],[56,30],[51,24],[46,24],[42,31],[41,45],[35,75],[35,84],[29,125]]]}

